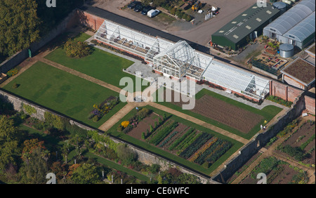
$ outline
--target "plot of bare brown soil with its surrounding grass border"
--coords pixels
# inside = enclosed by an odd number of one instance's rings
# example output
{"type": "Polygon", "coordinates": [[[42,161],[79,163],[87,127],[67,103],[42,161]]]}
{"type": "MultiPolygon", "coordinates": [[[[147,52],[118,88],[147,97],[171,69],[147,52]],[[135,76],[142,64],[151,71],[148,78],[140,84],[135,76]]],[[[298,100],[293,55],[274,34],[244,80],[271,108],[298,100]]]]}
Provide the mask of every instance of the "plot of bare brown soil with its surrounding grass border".
{"type": "Polygon", "coordinates": [[[258,110],[206,89],[199,91],[195,97],[193,110],[182,110],[183,102],[159,104],[206,121],[248,140],[260,130],[260,125],[264,124],[265,120],[270,121],[282,110],[271,105],[258,110]]]}

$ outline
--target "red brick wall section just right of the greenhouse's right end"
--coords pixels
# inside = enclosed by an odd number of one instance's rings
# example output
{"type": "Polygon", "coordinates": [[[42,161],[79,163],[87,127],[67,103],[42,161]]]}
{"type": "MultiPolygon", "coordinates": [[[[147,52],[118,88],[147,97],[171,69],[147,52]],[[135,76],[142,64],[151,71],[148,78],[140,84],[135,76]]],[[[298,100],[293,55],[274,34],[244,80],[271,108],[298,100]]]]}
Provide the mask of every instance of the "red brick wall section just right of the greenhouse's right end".
{"type": "Polygon", "coordinates": [[[275,95],[283,100],[294,102],[301,93],[303,93],[301,89],[287,86],[278,81],[270,81],[270,95],[275,95]]]}

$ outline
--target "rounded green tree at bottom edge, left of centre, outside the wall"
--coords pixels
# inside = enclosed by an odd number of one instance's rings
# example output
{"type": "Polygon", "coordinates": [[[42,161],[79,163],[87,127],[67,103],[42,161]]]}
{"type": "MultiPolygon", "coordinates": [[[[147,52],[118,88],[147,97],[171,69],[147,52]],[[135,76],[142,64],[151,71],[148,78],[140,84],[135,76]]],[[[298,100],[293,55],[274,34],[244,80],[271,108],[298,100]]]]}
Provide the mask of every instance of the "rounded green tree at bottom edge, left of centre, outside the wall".
{"type": "Polygon", "coordinates": [[[100,181],[97,167],[94,164],[83,164],[72,173],[72,180],[77,184],[95,184],[100,181]]]}

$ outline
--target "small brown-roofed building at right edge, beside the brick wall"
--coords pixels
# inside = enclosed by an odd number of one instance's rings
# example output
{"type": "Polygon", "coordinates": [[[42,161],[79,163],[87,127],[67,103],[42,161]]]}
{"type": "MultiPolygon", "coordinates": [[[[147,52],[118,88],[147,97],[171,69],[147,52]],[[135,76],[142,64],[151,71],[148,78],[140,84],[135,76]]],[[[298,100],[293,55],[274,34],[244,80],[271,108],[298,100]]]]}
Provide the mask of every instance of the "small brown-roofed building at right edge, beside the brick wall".
{"type": "Polygon", "coordinates": [[[315,65],[302,58],[297,58],[282,71],[282,81],[303,90],[315,84],[315,65]]]}

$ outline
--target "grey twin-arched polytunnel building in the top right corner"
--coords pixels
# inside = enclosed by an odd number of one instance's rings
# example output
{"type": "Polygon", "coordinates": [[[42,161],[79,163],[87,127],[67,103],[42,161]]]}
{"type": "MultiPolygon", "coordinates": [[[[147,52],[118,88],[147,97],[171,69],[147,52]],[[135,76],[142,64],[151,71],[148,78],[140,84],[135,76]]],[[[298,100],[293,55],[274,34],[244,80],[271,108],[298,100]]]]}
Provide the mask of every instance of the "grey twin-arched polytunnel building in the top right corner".
{"type": "Polygon", "coordinates": [[[315,0],[303,0],[263,29],[263,35],[304,48],[315,40],[315,0]]]}

